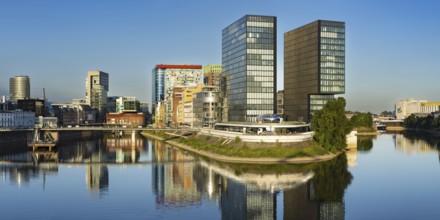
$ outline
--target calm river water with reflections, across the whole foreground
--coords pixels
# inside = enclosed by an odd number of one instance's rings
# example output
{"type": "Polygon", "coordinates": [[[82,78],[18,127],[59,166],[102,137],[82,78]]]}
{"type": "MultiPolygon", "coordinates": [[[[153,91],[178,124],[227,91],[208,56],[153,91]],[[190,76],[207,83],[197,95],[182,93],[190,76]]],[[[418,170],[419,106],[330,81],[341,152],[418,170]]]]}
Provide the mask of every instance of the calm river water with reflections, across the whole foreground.
{"type": "Polygon", "coordinates": [[[0,219],[440,219],[440,142],[362,138],[307,165],[230,165],[111,136],[0,155],[0,219]]]}

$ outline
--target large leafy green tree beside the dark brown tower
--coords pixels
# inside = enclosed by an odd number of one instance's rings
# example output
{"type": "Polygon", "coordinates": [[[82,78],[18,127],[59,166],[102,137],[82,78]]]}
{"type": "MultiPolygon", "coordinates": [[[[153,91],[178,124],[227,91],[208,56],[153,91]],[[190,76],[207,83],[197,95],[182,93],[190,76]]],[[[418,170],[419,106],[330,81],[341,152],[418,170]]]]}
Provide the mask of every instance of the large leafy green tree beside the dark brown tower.
{"type": "Polygon", "coordinates": [[[330,152],[338,152],[347,147],[346,136],[351,131],[350,122],[345,116],[345,99],[330,100],[322,110],[313,114],[310,122],[315,132],[313,138],[330,152]]]}

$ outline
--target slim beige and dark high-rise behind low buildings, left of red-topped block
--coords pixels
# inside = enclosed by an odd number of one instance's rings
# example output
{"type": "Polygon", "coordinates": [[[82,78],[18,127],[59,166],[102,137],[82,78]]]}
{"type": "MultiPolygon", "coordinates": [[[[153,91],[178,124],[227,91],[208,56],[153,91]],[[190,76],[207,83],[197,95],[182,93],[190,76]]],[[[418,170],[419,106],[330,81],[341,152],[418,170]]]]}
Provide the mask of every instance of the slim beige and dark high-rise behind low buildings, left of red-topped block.
{"type": "Polygon", "coordinates": [[[108,73],[89,71],[86,78],[86,103],[99,111],[98,121],[103,122],[107,112],[108,73]]]}

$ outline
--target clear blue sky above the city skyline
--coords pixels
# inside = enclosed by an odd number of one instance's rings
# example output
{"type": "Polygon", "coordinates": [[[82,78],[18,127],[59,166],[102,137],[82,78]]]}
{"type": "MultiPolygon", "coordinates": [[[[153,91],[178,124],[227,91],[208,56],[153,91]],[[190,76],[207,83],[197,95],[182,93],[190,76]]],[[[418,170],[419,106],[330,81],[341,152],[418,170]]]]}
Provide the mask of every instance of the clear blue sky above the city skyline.
{"type": "Polygon", "coordinates": [[[379,113],[413,97],[440,101],[440,3],[404,0],[0,0],[0,95],[28,75],[31,96],[84,98],[88,70],[109,95],[151,103],[155,64],[221,63],[221,30],[245,14],[278,18],[283,35],[317,19],[346,22],[347,109],[379,113]]]}

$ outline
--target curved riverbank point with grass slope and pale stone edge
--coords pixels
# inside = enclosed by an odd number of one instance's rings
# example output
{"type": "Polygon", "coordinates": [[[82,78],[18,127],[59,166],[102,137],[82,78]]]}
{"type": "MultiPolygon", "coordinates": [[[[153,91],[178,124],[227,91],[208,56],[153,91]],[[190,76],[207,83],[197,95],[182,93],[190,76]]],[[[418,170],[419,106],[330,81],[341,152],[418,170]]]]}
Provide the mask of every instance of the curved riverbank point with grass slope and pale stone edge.
{"type": "Polygon", "coordinates": [[[154,138],[203,157],[226,163],[238,164],[305,164],[327,161],[338,154],[330,153],[314,142],[287,146],[276,143],[247,143],[240,140],[216,139],[212,136],[193,134],[177,136],[165,132],[142,132],[154,138]],[[228,143],[228,144],[225,144],[228,143]],[[265,145],[265,146],[263,146],[265,145]]]}

